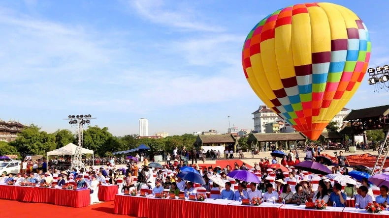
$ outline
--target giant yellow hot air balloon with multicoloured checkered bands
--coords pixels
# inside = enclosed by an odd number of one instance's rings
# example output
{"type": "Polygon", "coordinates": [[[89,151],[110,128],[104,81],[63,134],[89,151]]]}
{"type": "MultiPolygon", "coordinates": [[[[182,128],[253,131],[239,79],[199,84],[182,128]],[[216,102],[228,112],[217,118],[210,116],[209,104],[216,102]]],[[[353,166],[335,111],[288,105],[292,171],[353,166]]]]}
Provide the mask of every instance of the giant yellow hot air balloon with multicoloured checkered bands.
{"type": "Polygon", "coordinates": [[[261,20],[245,40],[242,64],[262,102],[317,140],[359,87],[370,50],[369,32],[354,12],[305,3],[261,20]]]}

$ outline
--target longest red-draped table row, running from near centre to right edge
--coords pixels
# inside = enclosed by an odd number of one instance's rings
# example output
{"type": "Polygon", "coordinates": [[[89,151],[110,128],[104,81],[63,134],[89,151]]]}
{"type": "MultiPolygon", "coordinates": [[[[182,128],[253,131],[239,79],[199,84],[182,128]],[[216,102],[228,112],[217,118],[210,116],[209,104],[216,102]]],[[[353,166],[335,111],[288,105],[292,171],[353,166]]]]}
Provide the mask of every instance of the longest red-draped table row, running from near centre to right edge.
{"type": "Polygon", "coordinates": [[[161,199],[151,195],[115,196],[114,213],[142,218],[228,218],[228,217],[272,217],[272,218],[376,218],[389,215],[389,211],[381,214],[369,214],[365,210],[343,207],[327,207],[326,210],[305,209],[305,205],[282,205],[264,202],[259,206],[242,205],[239,201],[223,199],[207,199],[192,201],[180,199],[161,199]]]}

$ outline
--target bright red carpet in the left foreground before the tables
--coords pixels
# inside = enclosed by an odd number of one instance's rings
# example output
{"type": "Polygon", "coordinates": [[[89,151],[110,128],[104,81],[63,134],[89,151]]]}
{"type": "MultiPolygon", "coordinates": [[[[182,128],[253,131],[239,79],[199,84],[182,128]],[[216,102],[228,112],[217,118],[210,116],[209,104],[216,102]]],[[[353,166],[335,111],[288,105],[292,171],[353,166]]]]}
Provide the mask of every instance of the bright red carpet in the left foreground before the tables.
{"type": "Polygon", "coordinates": [[[94,204],[88,207],[71,208],[52,204],[24,203],[11,200],[0,200],[2,218],[26,217],[31,214],[42,214],[43,217],[68,217],[68,218],[132,218],[127,215],[113,214],[113,201],[94,204]]]}

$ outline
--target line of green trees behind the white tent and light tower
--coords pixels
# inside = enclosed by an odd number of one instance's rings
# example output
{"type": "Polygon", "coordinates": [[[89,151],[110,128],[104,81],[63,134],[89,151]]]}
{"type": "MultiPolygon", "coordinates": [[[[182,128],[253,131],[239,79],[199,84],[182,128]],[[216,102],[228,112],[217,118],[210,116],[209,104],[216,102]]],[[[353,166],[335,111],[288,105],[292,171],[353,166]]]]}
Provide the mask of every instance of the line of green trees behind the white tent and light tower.
{"type": "MultiPolygon", "coordinates": [[[[172,152],[175,147],[185,146],[191,150],[197,136],[184,134],[182,136],[167,136],[165,138],[139,138],[136,134],[113,136],[107,127],[89,126],[83,132],[83,147],[95,151],[95,156],[111,156],[113,152],[129,150],[145,144],[154,154],[161,151],[172,152]]],[[[77,135],[62,129],[54,133],[42,131],[36,125],[23,129],[14,141],[0,141],[0,156],[2,155],[43,155],[46,152],[61,148],[68,143],[77,145],[77,135]]]]}

